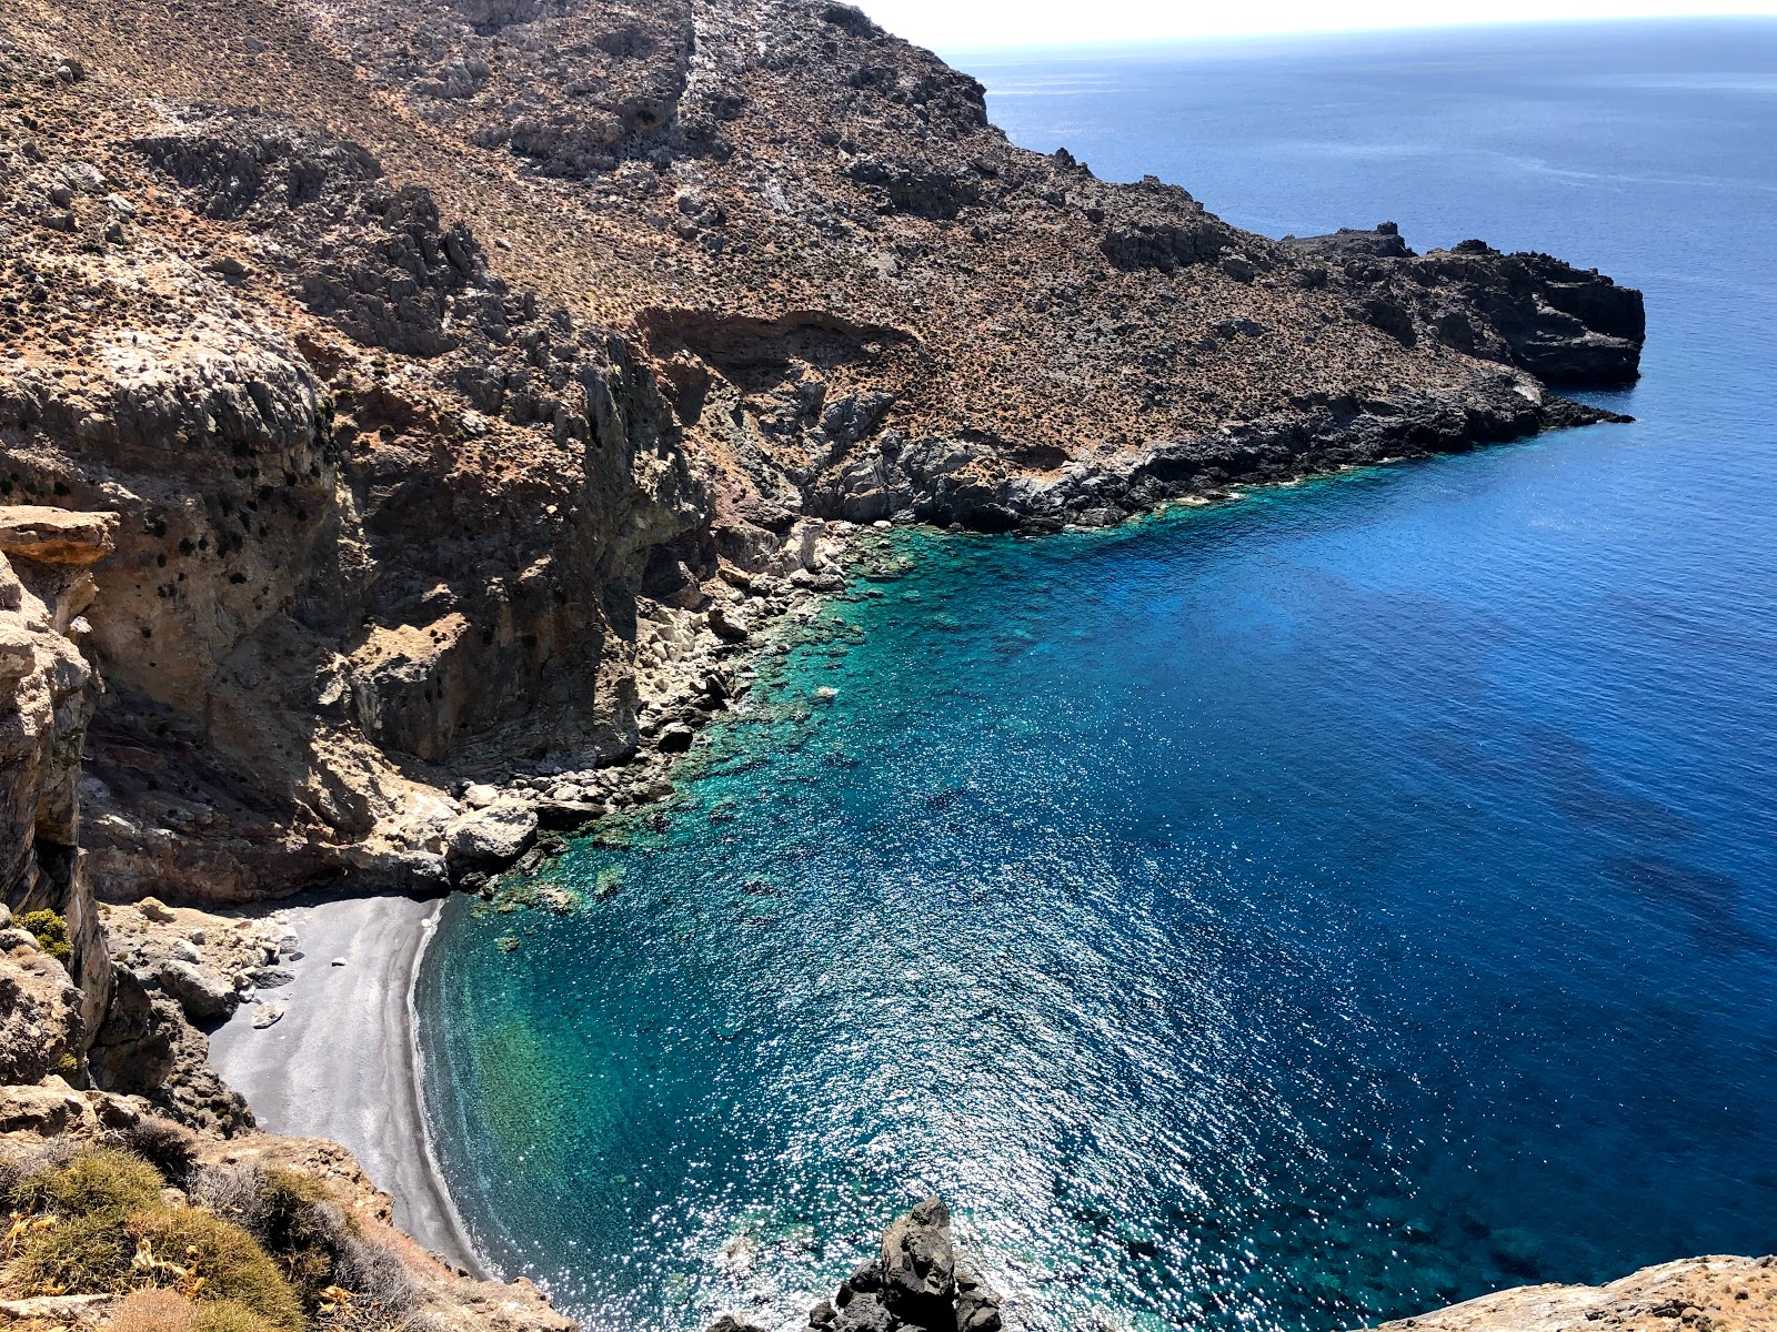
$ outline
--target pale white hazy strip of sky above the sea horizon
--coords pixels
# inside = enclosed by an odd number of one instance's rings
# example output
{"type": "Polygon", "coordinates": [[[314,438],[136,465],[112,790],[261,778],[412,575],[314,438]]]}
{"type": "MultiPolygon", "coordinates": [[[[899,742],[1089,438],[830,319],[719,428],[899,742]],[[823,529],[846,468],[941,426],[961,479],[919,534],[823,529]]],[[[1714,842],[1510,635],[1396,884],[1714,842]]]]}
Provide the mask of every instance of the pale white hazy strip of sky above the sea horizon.
{"type": "Polygon", "coordinates": [[[1462,21],[1777,14],[1777,0],[857,0],[890,32],[942,50],[1077,46],[1249,32],[1398,28],[1462,21]]]}

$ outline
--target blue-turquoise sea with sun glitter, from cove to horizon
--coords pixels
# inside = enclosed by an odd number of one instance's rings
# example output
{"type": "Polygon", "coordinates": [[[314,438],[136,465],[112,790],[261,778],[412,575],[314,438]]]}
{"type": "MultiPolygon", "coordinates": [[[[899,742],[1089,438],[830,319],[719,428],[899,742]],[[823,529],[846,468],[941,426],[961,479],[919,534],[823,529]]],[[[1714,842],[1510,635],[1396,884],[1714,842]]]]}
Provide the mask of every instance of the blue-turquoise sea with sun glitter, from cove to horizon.
{"type": "Polygon", "coordinates": [[[579,909],[448,909],[478,1245],[672,1332],[800,1323],[933,1190],[1043,1328],[1777,1249],[1777,25],[965,64],[1242,226],[1644,288],[1638,423],[897,536],[579,909]]]}

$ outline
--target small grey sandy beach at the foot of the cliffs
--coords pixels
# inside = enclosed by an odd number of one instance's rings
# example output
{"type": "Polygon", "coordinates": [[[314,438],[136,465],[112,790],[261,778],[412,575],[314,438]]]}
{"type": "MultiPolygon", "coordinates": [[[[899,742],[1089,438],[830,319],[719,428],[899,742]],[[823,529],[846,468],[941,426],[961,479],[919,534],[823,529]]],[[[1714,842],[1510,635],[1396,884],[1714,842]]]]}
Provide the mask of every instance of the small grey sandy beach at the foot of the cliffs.
{"type": "Polygon", "coordinates": [[[295,934],[300,957],[283,963],[290,984],[261,989],[259,1003],[210,1034],[210,1062],[247,1098],[261,1131],[345,1144],[394,1201],[402,1231],[485,1280],[492,1273],[437,1165],[419,1085],[414,986],[444,900],[297,897],[242,911],[295,934]],[[270,1007],[284,1016],[254,1028],[270,1007]]]}

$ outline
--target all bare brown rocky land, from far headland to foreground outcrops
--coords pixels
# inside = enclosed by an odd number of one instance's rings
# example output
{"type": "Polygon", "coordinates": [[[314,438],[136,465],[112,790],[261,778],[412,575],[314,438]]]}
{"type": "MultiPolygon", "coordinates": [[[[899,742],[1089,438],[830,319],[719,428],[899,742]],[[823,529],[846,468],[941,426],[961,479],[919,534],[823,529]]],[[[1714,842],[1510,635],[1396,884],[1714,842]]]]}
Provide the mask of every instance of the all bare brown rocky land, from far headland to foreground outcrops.
{"type": "MultiPolygon", "coordinates": [[[[375,1288],[554,1328],[256,1130],[208,1032],[291,941],[195,908],[476,888],[670,794],[867,524],[1107,526],[1605,421],[1558,389],[1633,380],[1644,316],[1550,256],[1269,240],[1018,149],[839,4],[14,0],[0,329],[0,1320],[167,1275],[20,1266],[85,1224],[55,1172],[121,1151],[162,1202],[116,1243],[224,1174],[320,1181],[306,1321],[375,1288]]],[[[261,1185],[229,1206],[284,1252],[261,1185]]],[[[1654,1273],[1418,1325],[1770,1314],[1768,1268],[1654,1273]]],[[[997,1323],[935,1201],[810,1316],[997,1323]]]]}

